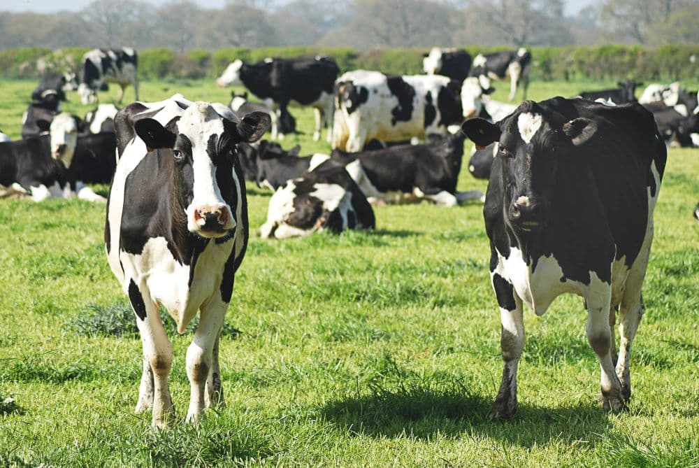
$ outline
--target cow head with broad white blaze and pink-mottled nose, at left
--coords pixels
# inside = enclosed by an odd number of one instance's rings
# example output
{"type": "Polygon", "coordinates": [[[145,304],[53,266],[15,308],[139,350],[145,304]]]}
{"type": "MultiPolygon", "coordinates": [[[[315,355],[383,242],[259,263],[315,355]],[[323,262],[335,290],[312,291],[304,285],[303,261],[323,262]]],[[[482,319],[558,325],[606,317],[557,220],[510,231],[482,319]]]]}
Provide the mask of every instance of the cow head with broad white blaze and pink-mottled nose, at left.
{"type": "Polygon", "coordinates": [[[231,211],[238,197],[233,177],[236,145],[257,141],[269,126],[265,113],[250,113],[236,123],[223,118],[211,104],[196,102],[167,127],[146,118],[138,120],[134,129],[147,148],[163,150],[168,156],[173,204],[183,208],[189,232],[221,237],[237,225],[231,211]]]}

